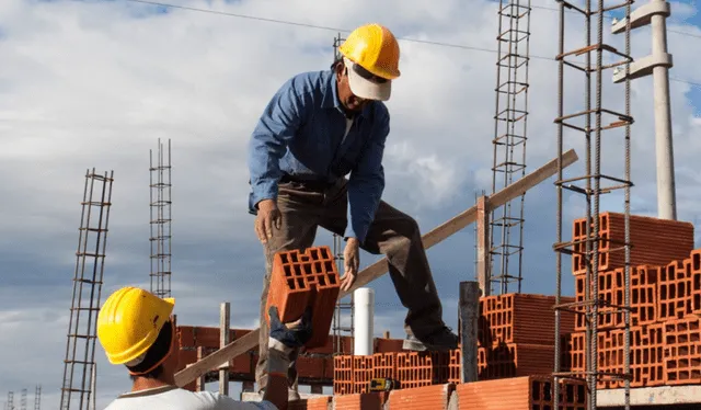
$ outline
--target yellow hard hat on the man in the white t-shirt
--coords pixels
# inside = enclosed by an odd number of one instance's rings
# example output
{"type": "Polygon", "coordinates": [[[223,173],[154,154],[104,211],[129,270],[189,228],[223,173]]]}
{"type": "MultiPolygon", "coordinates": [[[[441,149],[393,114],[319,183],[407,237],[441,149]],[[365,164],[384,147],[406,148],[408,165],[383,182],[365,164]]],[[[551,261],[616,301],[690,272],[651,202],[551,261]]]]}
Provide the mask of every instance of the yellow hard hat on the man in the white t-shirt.
{"type": "Polygon", "coordinates": [[[110,363],[129,365],[142,358],[169,320],[173,306],[173,298],[160,298],[131,286],[110,295],[97,315],[97,339],[110,363]]]}

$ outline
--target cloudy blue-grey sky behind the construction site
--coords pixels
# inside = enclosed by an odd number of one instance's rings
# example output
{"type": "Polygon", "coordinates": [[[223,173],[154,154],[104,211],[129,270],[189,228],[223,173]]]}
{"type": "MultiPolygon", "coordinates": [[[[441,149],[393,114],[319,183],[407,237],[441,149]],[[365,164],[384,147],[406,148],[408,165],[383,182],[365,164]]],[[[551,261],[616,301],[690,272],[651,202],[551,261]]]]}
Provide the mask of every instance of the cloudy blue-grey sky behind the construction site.
{"type": "MultiPolygon", "coordinates": [[[[172,140],[173,295],[179,322],[215,326],[219,304],[232,304],[232,326],[257,327],[263,254],[246,213],[245,147],[264,105],[290,76],[325,69],[338,31],[381,22],[401,41],[402,77],[389,102],[392,133],[386,151],[384,198],[413,215],[423,231],[491,190],[496,3],[487,0],[171,0],[192,9],[134,1],[0,1],[0,401],[7,391],[43,386],[44,408],[60,400],[84,173],[114,170],[104,295],[124,285],[149,287],[149,150],[172,140]],[[424,4],[424,5],[420,5],[424,4]],[[202,9],[202,12],[193,9],[202,9]],[[234,14],[239,15],[235,16],[234,14]],[[260,19],[248,19],[255,16],[260,19]],[[299,24],[283,24],[269,20],[299,24]],[[421,39],[444,45],[426,44],[421,39]],[[460,47],[446,46],[459,45],[460,47]],[[23,349],[21,351],[20,349],[23,349]]],[[[530,139],[535,170],[555,155],[558,13],[533,0],[530,139]]],[[[575,16],[576,18],[576,16],[575,16]]],[[[622,46],[622,37],[605,33],[622,46]]],[[[679,218],[696,223],[701,155],[701,19],[689,2],[673,2],[668,22],[679,218]],[[696,137],[696,138],[694,138],[696,137]]],[[[584,36],[568,19],[567,46],[584,36]]],[[[595,32],[596,33],[596,32],[595,32]]],[[[632,37],[633,54],[650,53],[650,29],[632,37]]],[[[605,77],[605,104],[622,111],[622,86],[605,77]]],[[[582,107],[582,76],[566,77],[566,106],[582,107]]],[[[652,79],[632,83],[633,202],[656,214],[652,79]]],[[[581,161],[568,171],[582,174],[581,161]]],[[[602,143],[604,171],[621,175],[622,137],[602,143]]],[[[552,180],[526,198],[524,287],[552,294],[555,189],[552,180]]],[[[566,198],[564,235],[581,215],[566,198]]],[[[602,210],[621,209],[620,196],[602,210]]],[[[321,231],[318,244],[330,244],[321,231]]],[[[428,252],[446,321],[457,324],[458,282],[473,276],[469,227],[428,252]]],[[[377,257],[363,253],[361,264],[377,257]]],[[[573,294],[566,269],[563,287],[573,294]]],[[[383,277],[376,333],[402,337],[404,309],[383,277]]],[[[97,345],[97,407],[129,389],[97,345]]],[[[212,388],[216,388],[212,386],[212,388]]],[[[233,391],[238,391],[232,386],[233,391]]]]}

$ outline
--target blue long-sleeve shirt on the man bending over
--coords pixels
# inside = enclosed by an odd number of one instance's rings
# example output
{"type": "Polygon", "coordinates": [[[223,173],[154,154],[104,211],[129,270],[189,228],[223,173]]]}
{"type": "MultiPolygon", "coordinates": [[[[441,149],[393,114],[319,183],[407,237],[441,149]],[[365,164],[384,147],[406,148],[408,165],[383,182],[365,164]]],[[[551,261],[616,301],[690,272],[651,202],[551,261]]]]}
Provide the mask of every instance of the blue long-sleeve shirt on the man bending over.
{"type": "Polygon", "coordinates": [[[249,210],[277,198],[284,173],[304,180],[348,179],[348,224],[344,236],[365,242],[384,190],[382,155],[390,130],[387,106],[368,104],[346,133],[332,70],[289,79],[265,107],[249,145],[249,210]]]}

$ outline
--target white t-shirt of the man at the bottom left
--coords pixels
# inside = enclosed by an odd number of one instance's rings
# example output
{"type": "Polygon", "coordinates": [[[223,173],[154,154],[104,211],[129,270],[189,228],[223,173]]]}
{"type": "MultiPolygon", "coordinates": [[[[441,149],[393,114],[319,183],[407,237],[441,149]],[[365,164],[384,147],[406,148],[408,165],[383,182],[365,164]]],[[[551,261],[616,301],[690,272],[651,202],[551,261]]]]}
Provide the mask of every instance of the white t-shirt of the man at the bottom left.
{"type": "Polygon", "coordinates": [[[237,401],[214,391],[163,386],[119,395],[105,410],[278,410],[269,401],[237,401]]]}

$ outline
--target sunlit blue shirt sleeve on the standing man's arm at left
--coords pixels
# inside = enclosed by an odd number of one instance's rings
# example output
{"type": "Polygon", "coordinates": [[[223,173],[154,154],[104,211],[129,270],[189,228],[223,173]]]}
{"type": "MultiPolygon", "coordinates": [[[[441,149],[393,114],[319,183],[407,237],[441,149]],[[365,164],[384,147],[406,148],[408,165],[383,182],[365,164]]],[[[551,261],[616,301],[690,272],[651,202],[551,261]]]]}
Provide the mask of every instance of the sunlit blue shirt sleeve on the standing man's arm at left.
{"type": "Polygon", "coordinates": [[[251,195],[249,210],[256,213],[263,200],[277,198],[277,182],[281,176],[279,160],[301,124],[303,106],[295,89],[295,80],[287,81],[273,95],[258,119],[249,144],[251,195]]]}

